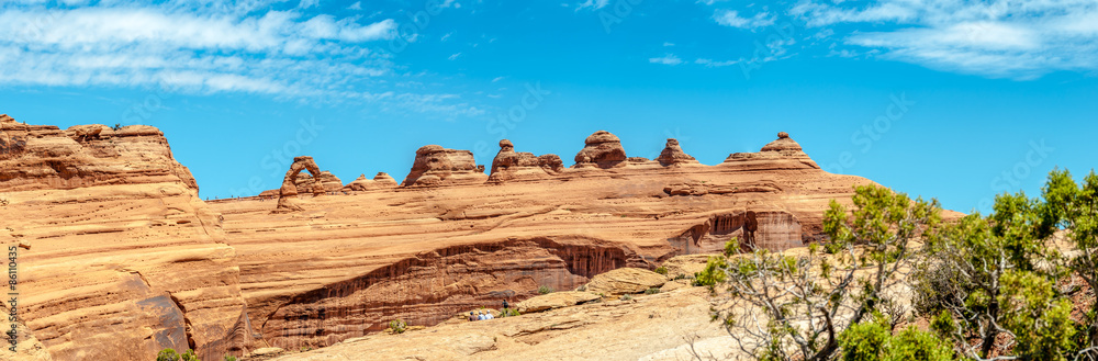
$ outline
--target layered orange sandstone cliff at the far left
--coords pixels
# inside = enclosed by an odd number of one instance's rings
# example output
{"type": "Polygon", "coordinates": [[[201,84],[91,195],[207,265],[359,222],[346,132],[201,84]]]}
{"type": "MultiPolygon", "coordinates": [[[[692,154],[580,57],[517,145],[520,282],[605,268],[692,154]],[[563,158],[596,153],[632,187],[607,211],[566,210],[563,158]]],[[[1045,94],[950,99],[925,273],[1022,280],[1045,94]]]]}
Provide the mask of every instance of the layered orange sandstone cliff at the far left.
{"type": "Polygon", "coordinates": [[[249,342],[235,251],[164,134],[0,116],[0,240],[24,246],[20,315],[53,359],[249,342]]]}

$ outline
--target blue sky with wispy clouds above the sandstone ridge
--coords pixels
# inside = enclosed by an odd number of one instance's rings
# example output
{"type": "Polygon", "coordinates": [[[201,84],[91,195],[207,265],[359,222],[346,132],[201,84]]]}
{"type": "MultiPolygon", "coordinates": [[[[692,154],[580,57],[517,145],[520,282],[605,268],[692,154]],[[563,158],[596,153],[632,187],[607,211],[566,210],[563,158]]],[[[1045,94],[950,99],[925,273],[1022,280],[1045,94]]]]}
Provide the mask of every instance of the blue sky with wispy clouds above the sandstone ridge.
{"type": "Polygon", "coordinates": [[[784,131],[967,212],[1098,154],[1094,1],[9,0],[0,33],[0,113],[157,126],[204,198],[295,155],[400,180],[427,144],[570,162],[606,129],[716,165],[784,131]]]}

